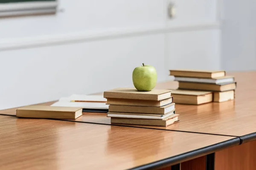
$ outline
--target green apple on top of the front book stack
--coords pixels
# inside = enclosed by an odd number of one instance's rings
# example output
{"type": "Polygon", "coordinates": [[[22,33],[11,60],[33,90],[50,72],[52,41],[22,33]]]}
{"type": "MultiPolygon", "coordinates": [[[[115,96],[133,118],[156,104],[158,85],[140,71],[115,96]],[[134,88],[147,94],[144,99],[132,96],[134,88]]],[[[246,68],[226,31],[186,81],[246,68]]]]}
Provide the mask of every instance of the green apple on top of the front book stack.
{"type": "Polygon", "coordinates": [[[134,68],[132,82],[138,91],[151,91],[157,83],[157,71],[151,65],[134,68]]]}

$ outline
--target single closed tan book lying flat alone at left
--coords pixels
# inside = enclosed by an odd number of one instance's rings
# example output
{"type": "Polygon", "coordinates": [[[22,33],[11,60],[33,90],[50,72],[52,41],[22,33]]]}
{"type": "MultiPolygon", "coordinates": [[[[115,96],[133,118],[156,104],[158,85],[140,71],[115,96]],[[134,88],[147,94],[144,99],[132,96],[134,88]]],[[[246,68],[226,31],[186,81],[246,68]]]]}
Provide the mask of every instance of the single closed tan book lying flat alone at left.
{"type": "Polygon", "coordinates": [[[76,119],[82,115],[82,108],[31,105],[17,108],[17,117],[76,119]]]}

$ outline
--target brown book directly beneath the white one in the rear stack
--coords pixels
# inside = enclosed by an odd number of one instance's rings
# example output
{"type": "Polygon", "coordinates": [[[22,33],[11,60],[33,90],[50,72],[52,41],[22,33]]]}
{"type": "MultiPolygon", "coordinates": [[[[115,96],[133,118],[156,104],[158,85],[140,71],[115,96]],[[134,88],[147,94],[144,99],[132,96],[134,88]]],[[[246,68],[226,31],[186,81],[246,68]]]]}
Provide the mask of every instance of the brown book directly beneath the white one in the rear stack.
{"type": "Polygon", "coordinates": [[[198,82],[179,82],[179,89],[202,90],[202,91],[230,91],[236,89],[236,82],[210,84],[198,82]]]}

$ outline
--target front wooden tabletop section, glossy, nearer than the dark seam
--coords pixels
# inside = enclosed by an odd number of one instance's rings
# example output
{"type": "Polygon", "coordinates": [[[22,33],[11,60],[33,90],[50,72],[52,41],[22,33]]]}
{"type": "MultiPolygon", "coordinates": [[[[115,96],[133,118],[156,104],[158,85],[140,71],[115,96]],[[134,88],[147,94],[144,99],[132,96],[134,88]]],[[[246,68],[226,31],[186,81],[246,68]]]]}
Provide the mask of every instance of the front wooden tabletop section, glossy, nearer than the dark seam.
{"type": "Polygon", "coordinates": [[[0,116],[0,169],[128,169],[232,138],[0,116]]]}

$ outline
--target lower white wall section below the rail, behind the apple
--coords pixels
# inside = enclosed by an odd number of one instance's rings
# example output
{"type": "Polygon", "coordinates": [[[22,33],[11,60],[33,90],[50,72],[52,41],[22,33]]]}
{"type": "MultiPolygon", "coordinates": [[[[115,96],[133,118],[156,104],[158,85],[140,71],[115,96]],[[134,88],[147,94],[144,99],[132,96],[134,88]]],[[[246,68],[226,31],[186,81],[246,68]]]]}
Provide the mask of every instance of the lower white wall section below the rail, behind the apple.
{"type": "Polygon", "coordinates": [[[154,65],[163,81],[163,40],[157,34],[3,51],[0,107],[131,86],[132,71],[143,62],[154,65]]]}

